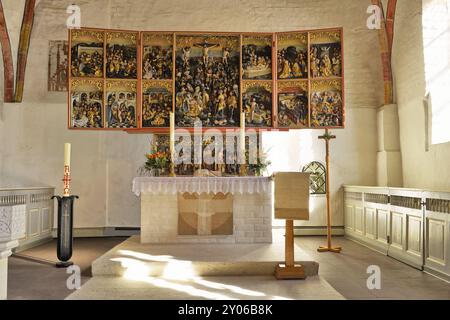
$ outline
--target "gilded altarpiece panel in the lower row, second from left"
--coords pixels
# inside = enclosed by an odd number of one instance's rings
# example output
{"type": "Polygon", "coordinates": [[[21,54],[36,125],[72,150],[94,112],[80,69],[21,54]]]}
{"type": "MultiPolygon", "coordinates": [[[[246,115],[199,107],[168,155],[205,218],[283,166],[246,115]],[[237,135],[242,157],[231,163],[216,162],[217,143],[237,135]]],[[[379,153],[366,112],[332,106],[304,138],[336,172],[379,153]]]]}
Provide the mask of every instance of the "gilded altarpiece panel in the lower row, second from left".
{"type": "Polygon", "coordinates": [[[108,80],[106,82],[106,128],[137,127],[137,82],[108,80]]]}

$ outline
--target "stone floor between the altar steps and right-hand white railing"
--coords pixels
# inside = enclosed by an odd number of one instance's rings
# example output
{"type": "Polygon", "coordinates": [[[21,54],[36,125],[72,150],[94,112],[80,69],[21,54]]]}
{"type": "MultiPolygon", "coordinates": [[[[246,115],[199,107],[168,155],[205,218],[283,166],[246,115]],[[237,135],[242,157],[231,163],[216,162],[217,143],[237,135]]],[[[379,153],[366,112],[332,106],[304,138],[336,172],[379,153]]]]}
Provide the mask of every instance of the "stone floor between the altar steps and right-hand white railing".
{"type": "Polygon", "coordinates": [[[346,299],[450,300],[448,282],[343,237],[333,242],[343,247],[340,254],[318,253],[317,247],[326,244],[322,237],[297,237],[295,242],[319,262],[319,276],[346,299]],[[381,270],[380,290],[367,289],[367,268],[372,265],[381,270]]]}

